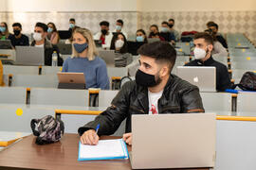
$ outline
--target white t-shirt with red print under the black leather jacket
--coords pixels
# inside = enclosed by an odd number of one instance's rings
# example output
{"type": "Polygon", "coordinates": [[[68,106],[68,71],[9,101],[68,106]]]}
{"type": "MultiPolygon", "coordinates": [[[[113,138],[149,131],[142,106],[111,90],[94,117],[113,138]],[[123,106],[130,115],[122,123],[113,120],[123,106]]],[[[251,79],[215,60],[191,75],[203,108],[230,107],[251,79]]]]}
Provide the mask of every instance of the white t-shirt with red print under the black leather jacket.
{"type": "Polygon", "coordinates": [[[148,91],[149,97],[149,114],[158,114],[158,99],[162,96],[163,91],[151,93],[148,91]]]}

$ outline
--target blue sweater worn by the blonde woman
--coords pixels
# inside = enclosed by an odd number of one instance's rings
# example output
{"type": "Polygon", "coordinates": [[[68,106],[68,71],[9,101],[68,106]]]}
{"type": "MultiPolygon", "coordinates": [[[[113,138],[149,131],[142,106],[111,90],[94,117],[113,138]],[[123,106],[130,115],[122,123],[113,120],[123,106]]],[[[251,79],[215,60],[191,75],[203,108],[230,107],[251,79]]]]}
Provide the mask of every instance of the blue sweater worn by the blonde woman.
{"type": "Polygon", "coordinates": [[[99,57],[94,60],[87,58],[67,58],[64,60],[63,72],[83,73],[86,88],[109,90],[106,63],[99,57]]]}

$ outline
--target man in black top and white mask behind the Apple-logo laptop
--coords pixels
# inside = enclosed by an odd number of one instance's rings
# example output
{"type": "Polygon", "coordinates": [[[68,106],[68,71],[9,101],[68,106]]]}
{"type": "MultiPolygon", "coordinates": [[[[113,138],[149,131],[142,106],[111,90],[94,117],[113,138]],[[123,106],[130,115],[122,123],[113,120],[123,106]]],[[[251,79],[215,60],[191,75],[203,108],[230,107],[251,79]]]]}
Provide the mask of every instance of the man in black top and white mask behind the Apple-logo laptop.
{"type": "Polygon", "coordinates": [[[231,88],[229,72],[227,66],[211,57],[213,50],[213,40],[210,34],[206,32],[194,35],[194,60],[185,66],[211,66],[216,67],[216,90],[225,91],[231,88]]]}

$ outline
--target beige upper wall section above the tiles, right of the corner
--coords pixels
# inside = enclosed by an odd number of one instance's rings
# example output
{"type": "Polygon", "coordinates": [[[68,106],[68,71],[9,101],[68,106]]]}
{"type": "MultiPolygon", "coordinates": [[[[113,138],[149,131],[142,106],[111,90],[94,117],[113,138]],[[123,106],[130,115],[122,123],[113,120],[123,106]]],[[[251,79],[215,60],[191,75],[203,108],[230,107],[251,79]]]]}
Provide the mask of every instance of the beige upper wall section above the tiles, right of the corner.
{"type": "Polygon", "coordinates": [[[139,11],[256,10],[256,0],[138,0],[139,11]]]}

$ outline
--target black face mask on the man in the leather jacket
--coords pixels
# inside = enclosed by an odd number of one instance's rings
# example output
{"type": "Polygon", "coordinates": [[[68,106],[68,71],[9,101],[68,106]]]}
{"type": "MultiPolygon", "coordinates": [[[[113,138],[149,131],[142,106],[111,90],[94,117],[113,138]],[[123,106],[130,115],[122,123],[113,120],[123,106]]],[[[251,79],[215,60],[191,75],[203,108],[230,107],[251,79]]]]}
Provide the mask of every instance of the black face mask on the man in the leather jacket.
{"type": "Polygon", "coordinates": [[[143,87],[154,87],[154,86],[160,84],[160,82],[161,82],[161,78],[159,76],[156,76],[156,80],[155,80],[154,75],[146,74],[146,73],[140,71],[139,69],[137,70],[136,83],[138,85],[143,86],[143,87]]]}

